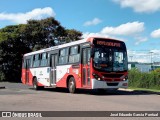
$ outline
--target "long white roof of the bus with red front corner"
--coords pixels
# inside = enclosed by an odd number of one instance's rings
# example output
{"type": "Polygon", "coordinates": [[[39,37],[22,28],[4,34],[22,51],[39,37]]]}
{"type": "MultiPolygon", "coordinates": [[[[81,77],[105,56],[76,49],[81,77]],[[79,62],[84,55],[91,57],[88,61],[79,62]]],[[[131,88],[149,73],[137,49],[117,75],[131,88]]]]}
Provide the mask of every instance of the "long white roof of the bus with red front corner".
{"type": "Polygon", "coordinates": [[[57,45],[57,46],[53,46],[53,47],[37,50],[37,51],[34,51],[34,52],[26,53],[26,54],[24,54],[24,57],[25,56],[29,56],[29,55],[38,54],[38,53],[48,52],[48,51],[51,51],[51,50],[56,50],[56,49],[59,49],[59,48],[64,48],[64,47],[68,47],[68,46],[72,46],[72,45],[77,45],[77,44],[81,44],[81,43],[85,43],[85,42],[89,42],[89,41],[92,42],[93,39],[95,39],[95,38],[96,39],[110,39],[110,40],[114,40],[114,41],[120,41],[120,40],[116,40],[116,39],[112,39],[112,38],[89,37],[89,38],[85,38],[85,39],[82,39],[82,40],[77,40],[77,41],[74,41],[74,42],[70,42],[70,43],[57,45]]]}

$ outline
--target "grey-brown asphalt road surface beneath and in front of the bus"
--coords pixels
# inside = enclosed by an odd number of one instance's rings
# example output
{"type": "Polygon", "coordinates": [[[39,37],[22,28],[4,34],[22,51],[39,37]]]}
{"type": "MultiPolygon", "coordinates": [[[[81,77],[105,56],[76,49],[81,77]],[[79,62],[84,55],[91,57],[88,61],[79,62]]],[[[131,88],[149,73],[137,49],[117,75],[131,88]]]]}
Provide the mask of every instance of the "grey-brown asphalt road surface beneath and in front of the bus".
{"type": "Polygon", "coordinates": [[[118,90],[99,94],[97,91],[78,90],[76,94],[70,94],[62,88],[35,91],[21,83],[4,82],[0,86],[5,86],[5,89],[0,89],[0,111],[160,111],[160,95],[156,93],[118,90]]]}

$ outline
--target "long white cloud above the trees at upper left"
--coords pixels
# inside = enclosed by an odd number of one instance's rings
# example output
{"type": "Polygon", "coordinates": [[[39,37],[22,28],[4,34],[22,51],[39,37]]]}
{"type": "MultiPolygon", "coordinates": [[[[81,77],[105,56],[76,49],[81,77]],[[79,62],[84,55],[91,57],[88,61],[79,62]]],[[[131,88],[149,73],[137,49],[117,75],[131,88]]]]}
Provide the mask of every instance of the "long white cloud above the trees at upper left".
{"type": "Polygon", "coordinates": [[[0,20],[8,20],[14,23],[26,23],[30,19],[42,19],[45,17],[54,17],[55,12],[50,7],[36,8],[26,13],[0,13],[0,20]]]}

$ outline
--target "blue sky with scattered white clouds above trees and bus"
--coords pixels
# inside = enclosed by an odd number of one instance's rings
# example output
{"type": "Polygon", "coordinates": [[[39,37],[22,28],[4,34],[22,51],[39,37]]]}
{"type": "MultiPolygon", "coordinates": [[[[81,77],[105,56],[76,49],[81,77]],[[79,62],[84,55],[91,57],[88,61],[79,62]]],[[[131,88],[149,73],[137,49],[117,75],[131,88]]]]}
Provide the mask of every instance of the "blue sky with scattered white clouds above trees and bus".
{"type": "Polygon", "coordinates": [[[129,61],[160,62],[160,0],[1,0],[0,28],[47,17],[83,38],[124,41],[129,61]]]}

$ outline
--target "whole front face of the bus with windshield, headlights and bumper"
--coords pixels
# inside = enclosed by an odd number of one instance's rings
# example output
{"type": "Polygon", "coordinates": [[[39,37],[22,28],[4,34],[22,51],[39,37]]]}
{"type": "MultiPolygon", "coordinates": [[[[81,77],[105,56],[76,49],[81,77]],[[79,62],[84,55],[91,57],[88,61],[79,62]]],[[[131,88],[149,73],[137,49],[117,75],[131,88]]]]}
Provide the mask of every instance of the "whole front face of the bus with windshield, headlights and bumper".
{"type": "Polygon", "coordinates": [[[128,87],[128,62],[124,42],[94,39],[91,57],[92,89],[128,87]]]}

